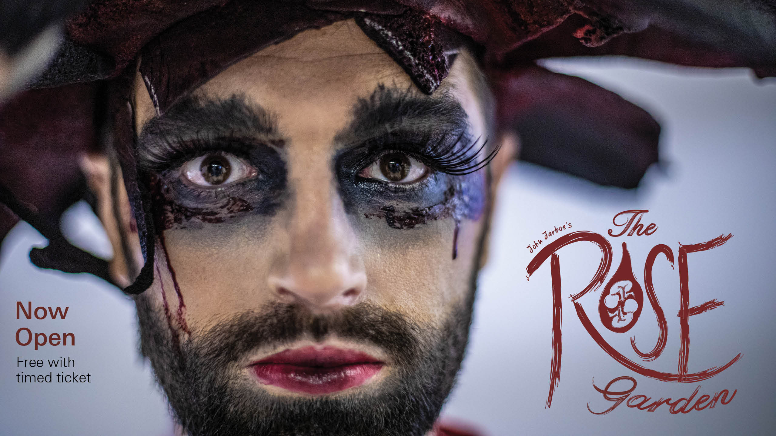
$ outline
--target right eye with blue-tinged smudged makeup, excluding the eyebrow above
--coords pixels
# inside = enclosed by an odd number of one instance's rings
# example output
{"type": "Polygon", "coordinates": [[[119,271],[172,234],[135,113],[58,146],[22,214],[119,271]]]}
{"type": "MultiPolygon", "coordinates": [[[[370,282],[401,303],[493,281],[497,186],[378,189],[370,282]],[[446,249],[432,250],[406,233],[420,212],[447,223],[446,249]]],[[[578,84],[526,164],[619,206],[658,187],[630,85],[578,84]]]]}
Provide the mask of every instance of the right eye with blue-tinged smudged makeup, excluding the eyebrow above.
{"type": "Polygon", "coordinates": [[[382,219],[394,229],[479,216],[485,196],[482,175],[459,175],[455,169],[465,168],[462,160],[481,168],[481,161],[470,157],[476,152],[479,159],[480,144],[461,133],[393,131],[346,147],[334,162],[345,208],[354,216],[382,219]]]}

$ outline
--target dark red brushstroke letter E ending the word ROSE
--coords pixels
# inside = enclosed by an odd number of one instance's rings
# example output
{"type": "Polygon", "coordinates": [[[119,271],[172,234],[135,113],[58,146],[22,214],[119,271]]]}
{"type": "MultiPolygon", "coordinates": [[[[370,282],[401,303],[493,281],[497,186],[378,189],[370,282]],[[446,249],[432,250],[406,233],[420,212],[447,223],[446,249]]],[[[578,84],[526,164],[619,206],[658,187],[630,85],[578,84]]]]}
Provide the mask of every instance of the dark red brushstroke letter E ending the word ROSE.
{"type": "MultiPolygon", "coordinates": [[[[679,368],[677,370],[677,377],[678,382],[689,382],[689,378],[691,378],[691,375],[687,374],[687,363],[690,358],[690,324],[688,322],[688,318],[691,317],[691,315],[695,315],[697,313],[703,313],[704,311],[698,311],[699,308],[704,307],[705,305],[708,305],[711,303],[710,306],[708,306],[707,310],[711,310],[714,307],[722,306],[721,303],[714,304],[711,301],[708,301],[706,303],[703,303],[701,306],[694,306],[694,307],[688,307],[690,305],[690,288],[689,288],[689,282],[690,282],[690,274],[688,272],[687,268],[687,254],[688,253],[696,253],[698,251],[706,251],[711,250],[714,247],[719,247],[722,244],[725,244],[731,237],[733,237],[733,234],[728,234],[727,236],[719,235],[719,237],[715,237],[712,240],[708,240],[707,242],[704,242],[702,244],[689,244],[689,245],[682,245],[679,244],[679,295],[680,295],[680,306],[679,306],[679,342],[681,344],[679,348],[679,368]]],[[[713,301],[713,300],[712,300],[713,301]]],[[[736,362],[740,358],[740,354],[736,356],[736,358],[733,358],[732,361],[730,361],[730,364],[733,362],[736,362]]]]}

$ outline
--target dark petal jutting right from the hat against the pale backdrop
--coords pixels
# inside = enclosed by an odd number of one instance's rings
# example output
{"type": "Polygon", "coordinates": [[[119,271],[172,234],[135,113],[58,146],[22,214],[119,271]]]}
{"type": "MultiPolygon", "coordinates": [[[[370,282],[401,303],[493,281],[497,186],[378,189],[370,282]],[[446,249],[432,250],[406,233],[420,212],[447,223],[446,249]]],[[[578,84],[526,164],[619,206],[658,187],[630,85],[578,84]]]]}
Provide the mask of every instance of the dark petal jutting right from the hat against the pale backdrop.
{"type": "Polygon", "coordinates": [[[535,65],[493,78],[501,128],[518,132],[521,160],[623,188],[657,161],[660,125],[614,92],[535,65]]]}

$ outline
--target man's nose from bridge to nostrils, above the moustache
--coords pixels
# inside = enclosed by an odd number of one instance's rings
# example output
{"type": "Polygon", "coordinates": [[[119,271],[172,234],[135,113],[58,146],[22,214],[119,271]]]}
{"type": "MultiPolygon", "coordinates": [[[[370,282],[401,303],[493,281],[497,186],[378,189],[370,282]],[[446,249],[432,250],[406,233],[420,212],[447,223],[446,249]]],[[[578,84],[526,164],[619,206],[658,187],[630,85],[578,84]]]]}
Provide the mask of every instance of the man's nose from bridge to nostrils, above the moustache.
{"type": "Polygon", "coordinates": [[[319,312],[358,303],[366,287],[358,240],[334,183],[297,184],[284,260],[268,276],[276,298],[319,312]]]}

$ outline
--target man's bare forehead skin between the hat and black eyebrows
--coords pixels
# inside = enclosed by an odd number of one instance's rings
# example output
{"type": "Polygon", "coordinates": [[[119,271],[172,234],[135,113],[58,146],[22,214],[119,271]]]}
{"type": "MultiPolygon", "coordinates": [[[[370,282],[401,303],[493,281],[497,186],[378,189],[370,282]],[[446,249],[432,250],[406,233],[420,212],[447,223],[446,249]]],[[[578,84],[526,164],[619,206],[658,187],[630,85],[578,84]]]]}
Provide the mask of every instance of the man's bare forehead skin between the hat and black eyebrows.
{"type": "MultiPolygon", "coordinates": [[[[460,57],[468,59],[467,54],[460,57]]],[[[473,129],[480,130],[480,107],[467,80],[472,67],[473,62],[456,61],[435,95],[449,92],[468,114],[473,129]]],[[[331,140],[352,120],[355,102],[372,95],[381,84],[430,98],[348,20],[266,47],[217,74],[193,94],[215,100],[244,95],[270,112],[285,135],[331,140]]],[[[135,97],[140,129],[155,114],[144,86],[136,87],[135,97]]]]}

